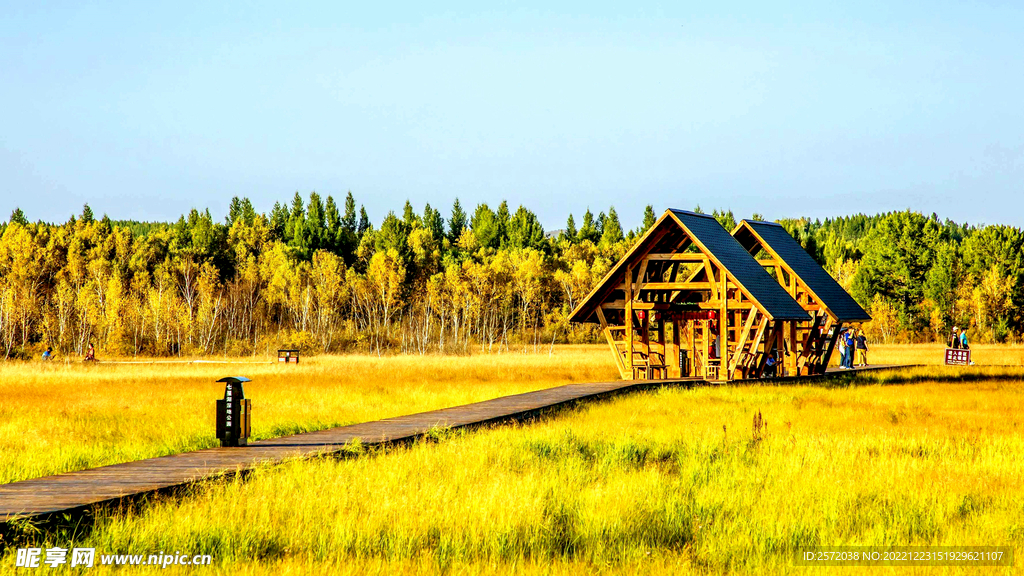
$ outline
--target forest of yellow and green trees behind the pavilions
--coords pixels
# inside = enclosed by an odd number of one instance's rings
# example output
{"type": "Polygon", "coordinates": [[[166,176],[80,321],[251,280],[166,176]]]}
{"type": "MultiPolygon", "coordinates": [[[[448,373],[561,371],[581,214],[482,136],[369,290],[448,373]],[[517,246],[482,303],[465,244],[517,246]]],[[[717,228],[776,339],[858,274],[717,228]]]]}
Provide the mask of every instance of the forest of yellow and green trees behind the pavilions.
{"type": "MultiPolygon", "coordinates": [[[[375,227],[350,192],[340,207],[296,193],[269,213],[233,198],[223,221],[208,209],[112,220],[85,205],[67,222],[33,223],[15,209],[0,224],[0,353],[471,354],[597,341],[569,312],[659,214],[646,206],[626,231],[613,207],[588,209],[546,233],[507,202],[466,211],[456,200],[442,215],[407,201],[375,227]]],[[[731,210],[713,215],[735,225],[731,210]]],[[[870,313],[872,341],[942,340],[953,325],[973,341],[1021,337],[1020,229],[909,210],[777,221],[870,313]]]]}

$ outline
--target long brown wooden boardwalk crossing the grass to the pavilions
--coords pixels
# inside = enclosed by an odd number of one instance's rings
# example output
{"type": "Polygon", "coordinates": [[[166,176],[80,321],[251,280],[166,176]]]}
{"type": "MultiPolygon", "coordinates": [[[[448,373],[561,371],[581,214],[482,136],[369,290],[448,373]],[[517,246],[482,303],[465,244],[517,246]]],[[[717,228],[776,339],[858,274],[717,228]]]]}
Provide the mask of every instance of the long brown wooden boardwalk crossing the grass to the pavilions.
{"type": "MultiPolygon", "coordinates": [[[[871,366],[854,371],[892,368],[901,367],[871,366]]],[[[820,377],[800,379],[813,380],[820,377]]],[[[790,379],[779,379],[784,380],[790,379]]],[[[768,380],[765,383],[770,382],[768,380]]],[[[737,383],[756,382],[746,380],[737,383]]],[[[695,386],[709,383],[703,380],[681,379],[567,384],[454,408],[253,442],[243,448],[211,448],[14,482],[0,485],[0,523],[16,518],[77,510],[223,474],[247,470],[261,464],[336,453],[355,439],[370,446],[407,441],[422,437],[438,426],[457,428],[522,418],[547,408],[663,385],[695,386]]],[[[210,431],[213,434],[213,422],[210,424],[210,431]]]]}

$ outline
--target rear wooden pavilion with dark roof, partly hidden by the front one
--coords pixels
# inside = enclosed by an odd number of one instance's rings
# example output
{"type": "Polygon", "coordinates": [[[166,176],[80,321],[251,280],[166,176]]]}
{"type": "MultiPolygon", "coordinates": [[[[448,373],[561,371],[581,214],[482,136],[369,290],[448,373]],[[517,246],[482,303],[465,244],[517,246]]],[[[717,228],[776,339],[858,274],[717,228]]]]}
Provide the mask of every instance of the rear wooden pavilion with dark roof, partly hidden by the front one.
{"type": "Polygon", "coordinates": [[[742,220],[732,237],[811,315],[810,323],[790,326],[797,354],[786,357],[786,371],[823,374],[843,325],[871,317],[778,223],[742,220]]]}

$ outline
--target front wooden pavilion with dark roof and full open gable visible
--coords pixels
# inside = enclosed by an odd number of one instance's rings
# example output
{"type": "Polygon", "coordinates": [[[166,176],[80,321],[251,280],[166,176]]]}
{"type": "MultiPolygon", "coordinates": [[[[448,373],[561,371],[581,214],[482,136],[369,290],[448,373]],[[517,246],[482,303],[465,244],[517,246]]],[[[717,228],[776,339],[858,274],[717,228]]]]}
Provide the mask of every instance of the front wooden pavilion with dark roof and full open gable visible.
{"type": "Polygon", "coordinates": [[[712,216],[667,210],[571,322],[599,323],[624,379],[757,378],[811,316],[712,216]]]}

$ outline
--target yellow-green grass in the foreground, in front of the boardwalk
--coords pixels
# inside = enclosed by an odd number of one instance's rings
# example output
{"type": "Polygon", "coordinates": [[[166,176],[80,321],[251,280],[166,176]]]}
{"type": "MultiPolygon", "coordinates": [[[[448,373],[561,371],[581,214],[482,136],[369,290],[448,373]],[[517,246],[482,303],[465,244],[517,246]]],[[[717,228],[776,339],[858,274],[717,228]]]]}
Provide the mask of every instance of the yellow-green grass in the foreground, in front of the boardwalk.
{"type": "Polygon", "coordinates": [[[791,573],[807,570],[799,546],[842,544],[1012,545],[1019,564],[1022,376],[664,388],[261,468],[36,538],[209,553],[213,572],[241,574],[791,573]]]}

